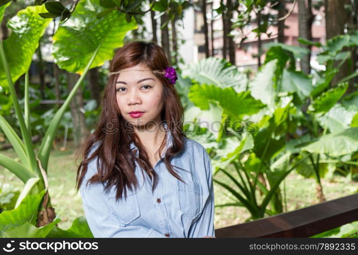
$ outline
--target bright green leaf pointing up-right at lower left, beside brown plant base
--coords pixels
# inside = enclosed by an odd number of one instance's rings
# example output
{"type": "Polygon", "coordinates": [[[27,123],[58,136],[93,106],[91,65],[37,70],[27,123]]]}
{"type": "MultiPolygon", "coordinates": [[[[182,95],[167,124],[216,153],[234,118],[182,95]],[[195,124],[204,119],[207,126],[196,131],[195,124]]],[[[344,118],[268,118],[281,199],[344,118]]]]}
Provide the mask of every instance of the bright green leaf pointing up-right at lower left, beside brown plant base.
{"type": "Polygon", "coordinates": [[[38,207],[45,192],[46,190],[42,190],[36,195],[27,195],[16,209],[2,212],[0,214],[0,234],[21,226],[27,221],[35,224],[38,207]]]}

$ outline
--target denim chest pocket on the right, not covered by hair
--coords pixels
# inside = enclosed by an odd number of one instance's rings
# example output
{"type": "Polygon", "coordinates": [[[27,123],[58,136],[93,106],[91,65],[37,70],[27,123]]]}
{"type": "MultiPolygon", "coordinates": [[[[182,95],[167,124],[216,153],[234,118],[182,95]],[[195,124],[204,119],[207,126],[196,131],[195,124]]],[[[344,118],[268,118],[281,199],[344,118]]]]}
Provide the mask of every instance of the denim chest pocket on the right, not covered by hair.
{"type": "Polygon", "coordinates": [[[202,185],[190,180],[176,180],[180,210],[191,219],[203,211],[202,185]]]}

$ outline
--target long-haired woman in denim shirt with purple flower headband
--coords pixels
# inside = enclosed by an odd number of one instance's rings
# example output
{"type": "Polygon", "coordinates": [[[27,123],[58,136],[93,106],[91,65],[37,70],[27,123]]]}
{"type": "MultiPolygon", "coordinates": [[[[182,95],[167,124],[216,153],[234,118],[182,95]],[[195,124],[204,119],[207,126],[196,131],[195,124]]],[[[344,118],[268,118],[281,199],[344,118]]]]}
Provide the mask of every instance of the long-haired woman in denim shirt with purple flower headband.
{"type": "Polygon", "coordinates": [[[94,237],[214,237],[211,161],[182,132],[177,76],[163,49],[128,43],[109,71],[76,180],[94,237]]]}

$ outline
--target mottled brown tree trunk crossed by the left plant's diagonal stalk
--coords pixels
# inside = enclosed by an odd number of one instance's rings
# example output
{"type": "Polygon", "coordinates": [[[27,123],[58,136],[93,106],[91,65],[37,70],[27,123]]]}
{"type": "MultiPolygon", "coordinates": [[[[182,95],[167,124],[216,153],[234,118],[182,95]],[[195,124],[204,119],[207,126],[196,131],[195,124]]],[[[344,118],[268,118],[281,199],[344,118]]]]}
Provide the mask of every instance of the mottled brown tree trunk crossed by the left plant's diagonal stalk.
{"type": "MultiPolygon", "coordinates": [[[[77,80],[79,79],[79,75],[66,71],[66,77],[68,83],[68,90],[70,92],[75,86],[77,80]]],[[[79,148],[84,144],[84,141],[88,135],[84,118],[83,92],[81,87],[77,89],[74,98],[71,100],[70,109],[73,121],[73,136],[75,147],[79,148]]]]}

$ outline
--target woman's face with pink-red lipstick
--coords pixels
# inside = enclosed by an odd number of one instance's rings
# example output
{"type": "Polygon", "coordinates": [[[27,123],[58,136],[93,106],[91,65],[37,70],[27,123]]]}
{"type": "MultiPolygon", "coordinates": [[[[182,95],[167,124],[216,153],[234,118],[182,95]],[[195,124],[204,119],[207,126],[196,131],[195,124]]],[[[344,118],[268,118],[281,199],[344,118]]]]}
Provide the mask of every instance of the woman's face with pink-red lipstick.
{"type": "Polygon", "coordinates": [[[164,106],[163,84],[142,65],[123,69],[116,82],[116,98],[122,117],[133,126],[160,123],[164,106]],[[146,71],[138,71],[146,70],[146,71]],[[142,114],[130,114],[140,111],[142,114]]]}

